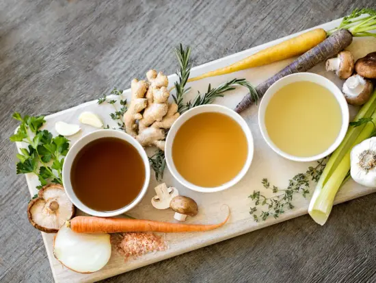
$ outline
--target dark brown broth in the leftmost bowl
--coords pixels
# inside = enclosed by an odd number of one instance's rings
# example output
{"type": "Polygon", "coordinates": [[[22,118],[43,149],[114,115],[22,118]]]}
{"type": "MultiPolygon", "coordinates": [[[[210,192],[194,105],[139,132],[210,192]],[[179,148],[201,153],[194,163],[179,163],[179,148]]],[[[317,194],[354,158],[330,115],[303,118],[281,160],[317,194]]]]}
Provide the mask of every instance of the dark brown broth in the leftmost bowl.
{"type": "Polygon", "coordinates": [[[120,138],[98,138],[73,160],[70,182],[89,208],[111,211],[130,204],[142,190],[145,167],[133,145],[120,138]]]}

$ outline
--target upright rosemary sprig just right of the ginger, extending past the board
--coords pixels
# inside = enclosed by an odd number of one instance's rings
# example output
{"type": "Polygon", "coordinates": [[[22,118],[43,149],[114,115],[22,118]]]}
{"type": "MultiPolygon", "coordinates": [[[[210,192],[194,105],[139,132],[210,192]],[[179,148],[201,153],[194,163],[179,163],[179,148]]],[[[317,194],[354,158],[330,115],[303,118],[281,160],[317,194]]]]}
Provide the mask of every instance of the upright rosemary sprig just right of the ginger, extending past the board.
{"type": "Polygon", "coordinates": [[[192,67],[192,63],[189,61],[189,56],[191,55],[191,47],[183,49],[183,45],[180,43],[180,48],[175,48],[174,52],[176,54],[176,58],[178,58],[180,69],[176,72],[176,75],[178,75],[178,82],[175,82],[176,94],[172,95],[172,98],[178,105],[178,112],[182,114],[182,110],[183,108],[185,108],[183,97],[185,93],[189,92],[189,90],[191,89],[185,88],[185,84],[187,84],[192,67]]]}

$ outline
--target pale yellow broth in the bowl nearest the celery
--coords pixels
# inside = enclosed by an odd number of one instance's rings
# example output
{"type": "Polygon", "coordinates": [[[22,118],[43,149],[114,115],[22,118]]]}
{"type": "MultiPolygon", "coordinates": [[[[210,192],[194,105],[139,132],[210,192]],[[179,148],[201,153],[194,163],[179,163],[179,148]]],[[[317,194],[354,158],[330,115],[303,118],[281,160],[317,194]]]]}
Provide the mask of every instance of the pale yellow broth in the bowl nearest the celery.
{"type": "Polygon", "coordinates": [[[336,140],[342,114],[336,97],[313,82],[294,82],[273,95],[265,112],[269,138],[292,156],[316,156],[336,140]]]}

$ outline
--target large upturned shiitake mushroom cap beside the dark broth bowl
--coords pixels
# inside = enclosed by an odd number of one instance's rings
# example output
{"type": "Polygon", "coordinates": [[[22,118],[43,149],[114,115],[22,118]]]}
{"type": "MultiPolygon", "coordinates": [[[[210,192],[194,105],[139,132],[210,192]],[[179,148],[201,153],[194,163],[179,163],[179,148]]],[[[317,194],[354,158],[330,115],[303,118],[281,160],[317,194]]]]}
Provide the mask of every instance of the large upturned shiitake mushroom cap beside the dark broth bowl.
{"type": "Polygon", "coordinates": [[[57,233],[65,221],[76,212],[75,206],[68,199],[64,187],[49,184],[41,188],[38,197],[27,206],[27,216],[31,225],[46,233],[57,233]]]}

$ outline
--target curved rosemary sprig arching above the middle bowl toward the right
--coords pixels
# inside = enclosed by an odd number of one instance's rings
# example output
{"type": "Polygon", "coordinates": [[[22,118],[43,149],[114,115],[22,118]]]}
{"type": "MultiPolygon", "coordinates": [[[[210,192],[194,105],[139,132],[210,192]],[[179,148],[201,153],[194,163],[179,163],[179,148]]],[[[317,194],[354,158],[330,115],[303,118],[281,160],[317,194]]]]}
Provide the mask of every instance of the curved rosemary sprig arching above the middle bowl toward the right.
{"type": "Polygon", "coordinates": [[[254,98],[254,101],[258,100],[258,93],[254,89],[254,86],[250,84],[250,82],[247,82],[246,79],[232,79],[228,82],[225,82],[224,84],[219,85],[217,88],[211,88],[211,85],[209,84],[208,90],[206,91],[206,93],[204,93],[204,95],[201,95],[200,92],[198,92],[198,95],[195,97],[195,99],[188,101],[185,104],[183,112],[196,106],[213,103],[214,99],[216,99],[217,97],[224,97],[224,93],[226,91],[234,90],[234,86],[236,85],[245,86],[246,88],[248,88],[254,98]]]}

